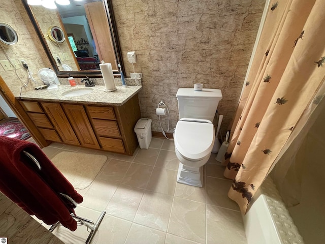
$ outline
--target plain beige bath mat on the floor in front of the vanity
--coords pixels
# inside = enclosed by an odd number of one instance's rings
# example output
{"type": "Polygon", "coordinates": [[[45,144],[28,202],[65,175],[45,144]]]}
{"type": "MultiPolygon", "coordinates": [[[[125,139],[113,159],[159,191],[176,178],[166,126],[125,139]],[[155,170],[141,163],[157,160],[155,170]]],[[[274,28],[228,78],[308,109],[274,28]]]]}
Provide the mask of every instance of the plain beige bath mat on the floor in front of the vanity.
{"type": "Polygon", "coordinates": [[[62,151],[51,161],[75,189],[82,190],[90,186],[106,160],[104,155],[62,151]]]}

